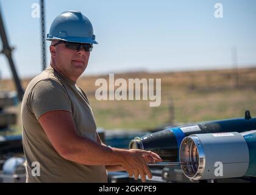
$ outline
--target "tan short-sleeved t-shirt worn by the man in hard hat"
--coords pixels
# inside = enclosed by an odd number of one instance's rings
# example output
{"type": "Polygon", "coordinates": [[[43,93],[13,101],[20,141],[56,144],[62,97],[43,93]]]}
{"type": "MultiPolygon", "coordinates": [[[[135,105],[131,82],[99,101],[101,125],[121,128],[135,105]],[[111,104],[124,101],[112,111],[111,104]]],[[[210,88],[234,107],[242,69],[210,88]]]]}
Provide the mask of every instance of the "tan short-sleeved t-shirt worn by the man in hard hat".
{"type": "Polygon", "coordinates": [[[71,112],[77,134],[96,141],[96,124],[84,91],[49,66],[30,81],[21,105],[27,182],[107,182],[105,166],[75,163],[55,151],[38,122],[41,115],[52,110],[71,112]],[[37,162],[40,172],[35,169],[37,162]]]}

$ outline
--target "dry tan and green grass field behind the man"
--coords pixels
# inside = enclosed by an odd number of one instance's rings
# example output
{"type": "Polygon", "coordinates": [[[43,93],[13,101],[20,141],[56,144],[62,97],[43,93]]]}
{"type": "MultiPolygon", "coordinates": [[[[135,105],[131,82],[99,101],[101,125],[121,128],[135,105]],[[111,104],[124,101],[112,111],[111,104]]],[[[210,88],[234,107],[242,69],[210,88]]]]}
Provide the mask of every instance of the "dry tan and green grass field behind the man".
{"type": "MultiPolygon", "coordinates": [[[[98,127],[104,129],[148,130],[167,123],[182,124],[244,116],[250,110],[256,116],[256,68],[166,73],[123,73],[115,79],[162,79],[162,103],[149,107],[150,101],[98,101],[95,81],[108,75],[81,77],[77,84],[84,89],[93,108],[98,127]]],[[[30,79],[23,79],[26,88],[30,79]]],[[[14,90],[12,80],[0,80],[1,90],[14,90]]],[[[20,115],[18,107],[9,108],[20,115]]],[[[20,133],[20,117],[13,128],[20,133]]]]}

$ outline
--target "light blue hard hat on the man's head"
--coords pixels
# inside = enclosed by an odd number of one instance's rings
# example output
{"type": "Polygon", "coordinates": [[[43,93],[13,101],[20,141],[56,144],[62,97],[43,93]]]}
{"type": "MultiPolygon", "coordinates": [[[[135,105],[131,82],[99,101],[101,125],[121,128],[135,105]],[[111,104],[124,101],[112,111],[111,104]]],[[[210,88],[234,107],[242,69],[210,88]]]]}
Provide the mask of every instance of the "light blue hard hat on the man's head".
{"type": "Polygon", "coordinates": [[[63,12],[54,19],[46,40],[98,44],[90,20],[81,12],[72,10],[63,12]]]}

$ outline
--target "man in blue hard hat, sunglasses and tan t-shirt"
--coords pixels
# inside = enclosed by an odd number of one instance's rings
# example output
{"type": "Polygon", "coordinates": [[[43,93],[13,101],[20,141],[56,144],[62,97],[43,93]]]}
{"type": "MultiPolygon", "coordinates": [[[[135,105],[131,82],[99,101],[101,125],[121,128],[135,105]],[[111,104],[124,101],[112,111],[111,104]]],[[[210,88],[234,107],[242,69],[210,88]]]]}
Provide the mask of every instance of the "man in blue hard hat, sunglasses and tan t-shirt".
{"type": "Polygon", "coordinates": [[[47,40],[52,41],[51,65],[30,81],[21,105],[27,182],[107,182],[107,171],[122,170],[143,182],[151,178],[146,163],[161,158],[105,146],[87,96],[76,85],[97,44],[89,19],[77,11],[63,12],[52,22],[47,40]]]}

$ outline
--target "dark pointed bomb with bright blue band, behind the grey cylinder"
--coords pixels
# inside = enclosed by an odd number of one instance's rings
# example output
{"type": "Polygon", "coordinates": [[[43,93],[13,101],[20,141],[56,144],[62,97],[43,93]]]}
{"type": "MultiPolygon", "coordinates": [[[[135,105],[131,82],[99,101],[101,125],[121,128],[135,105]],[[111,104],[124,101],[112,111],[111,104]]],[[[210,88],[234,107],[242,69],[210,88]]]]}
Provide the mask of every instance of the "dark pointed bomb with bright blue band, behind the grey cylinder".
{"type": "MultiPolygon", "coordinates": [[[[246,112],[246,116],[249,112],[246,112]]],[[[182,127],[168,128],[159,132],[136,137],[129,148],[144,149],[160,155],[163,161],[179,161],[179,146],[183,138],[197,133],[245,132],[256,129],[256,118],[234,118],[202,122],[182,127]]]]}

